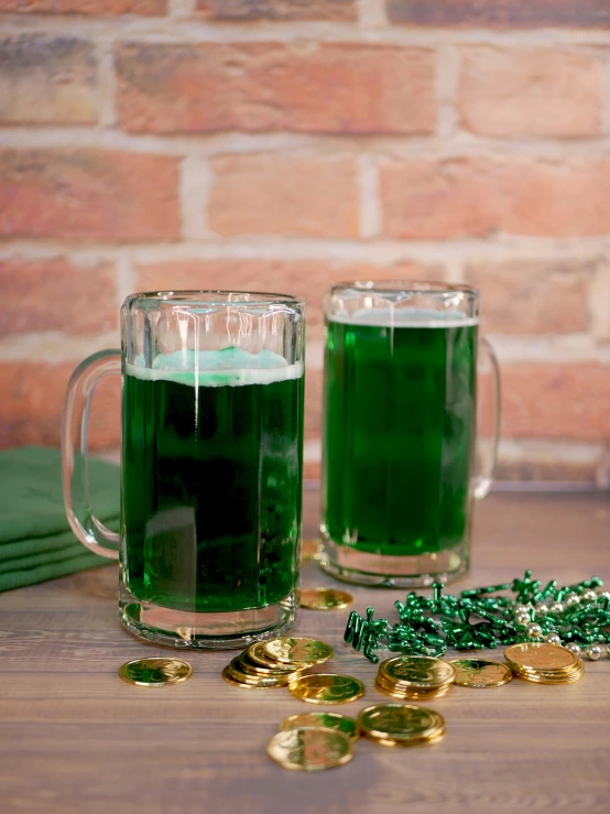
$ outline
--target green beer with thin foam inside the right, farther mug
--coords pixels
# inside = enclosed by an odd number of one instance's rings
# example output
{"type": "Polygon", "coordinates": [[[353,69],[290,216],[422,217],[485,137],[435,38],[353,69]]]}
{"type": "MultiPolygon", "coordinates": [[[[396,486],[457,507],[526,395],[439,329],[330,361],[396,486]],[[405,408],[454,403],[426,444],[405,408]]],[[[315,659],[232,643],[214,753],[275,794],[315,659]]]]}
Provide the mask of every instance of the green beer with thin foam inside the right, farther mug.
{"type": "MultiPolygon", "coordinates": [[[[459,312],[329,317],[323,534],[335,565],[342,550],[434,555],[434,571],[438,553],[469,535],[477,332],[459,312]]],[[[349,578],[349,566],[328,569],[349,578]]]]}

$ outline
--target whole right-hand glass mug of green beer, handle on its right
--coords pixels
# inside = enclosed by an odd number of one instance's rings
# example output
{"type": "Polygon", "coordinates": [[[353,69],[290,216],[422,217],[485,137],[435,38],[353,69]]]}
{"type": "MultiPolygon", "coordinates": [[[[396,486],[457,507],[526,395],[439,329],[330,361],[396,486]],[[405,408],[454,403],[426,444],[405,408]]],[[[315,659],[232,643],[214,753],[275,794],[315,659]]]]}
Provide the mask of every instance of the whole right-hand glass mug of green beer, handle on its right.
{"type": "Polygon", "coordinates": [[[322,565],[362,585],[456,578],[498,446],[499,372],[478,345],[478,292],[344,283],[325,313],[322,565]],[[479,442],[478,362],[491,394],[479,442]]]}

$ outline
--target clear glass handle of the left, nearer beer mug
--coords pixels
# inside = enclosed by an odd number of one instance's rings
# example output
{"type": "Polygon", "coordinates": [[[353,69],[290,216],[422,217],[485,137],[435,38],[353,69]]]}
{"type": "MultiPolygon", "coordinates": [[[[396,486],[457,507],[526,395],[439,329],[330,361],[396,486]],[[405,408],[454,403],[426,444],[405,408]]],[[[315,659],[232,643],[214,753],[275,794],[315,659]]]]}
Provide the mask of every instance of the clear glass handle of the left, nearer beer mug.
{"type": "Polygon", "coordinates": [[[70,377],[62,416],[62,481],[68,522],[83,545],[109,560],[119,558],[120,535],[107,529],[91,509],[87,442],[94,389],[113,373],[121,375],[120,350],[88,356],[70,377]]]}

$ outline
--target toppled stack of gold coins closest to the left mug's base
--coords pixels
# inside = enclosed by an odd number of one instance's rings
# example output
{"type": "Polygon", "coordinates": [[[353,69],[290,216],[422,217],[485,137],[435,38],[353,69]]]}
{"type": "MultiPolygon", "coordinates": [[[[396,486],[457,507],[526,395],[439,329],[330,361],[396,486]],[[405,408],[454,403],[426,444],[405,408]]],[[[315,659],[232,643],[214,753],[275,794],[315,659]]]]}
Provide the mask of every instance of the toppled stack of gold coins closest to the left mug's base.
{"type": "Polygon", "coordinates": [[[254,642],[227,664],[222,679],[246,690],[285,687],[304,670],[334,654],[330,645],[315,639],[285,637],[254,642]]]}

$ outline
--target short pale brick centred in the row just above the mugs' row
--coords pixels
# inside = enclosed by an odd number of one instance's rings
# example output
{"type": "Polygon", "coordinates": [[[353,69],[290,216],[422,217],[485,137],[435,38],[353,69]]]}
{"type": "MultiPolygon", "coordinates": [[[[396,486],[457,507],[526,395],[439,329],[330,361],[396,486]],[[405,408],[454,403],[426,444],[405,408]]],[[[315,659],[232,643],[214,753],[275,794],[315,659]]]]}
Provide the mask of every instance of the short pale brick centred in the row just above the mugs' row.
{"type": "Polygon", "coordinates": [[[208,221],[219,235],[358,237],[353,159],[233,155],[213,166],[208,221]]]}

